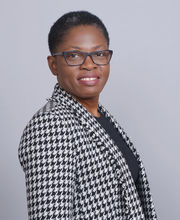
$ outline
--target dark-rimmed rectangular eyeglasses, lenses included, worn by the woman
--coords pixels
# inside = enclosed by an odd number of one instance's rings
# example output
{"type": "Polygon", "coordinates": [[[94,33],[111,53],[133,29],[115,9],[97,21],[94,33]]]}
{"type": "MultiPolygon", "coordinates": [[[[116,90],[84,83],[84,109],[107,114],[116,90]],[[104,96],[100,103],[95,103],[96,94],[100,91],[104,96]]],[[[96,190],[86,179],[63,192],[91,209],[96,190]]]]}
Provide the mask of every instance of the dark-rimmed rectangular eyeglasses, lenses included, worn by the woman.
{"type": "Polygon", "coordinates": [[[112,50],[100,50],[91,53],[72,50],[55,53],[52,56],[64,56],[64,59],[69,66],[80,66],[85,62],[87,56],[90,56],[91,60],[96,65],[107,65],[111,60],[112,54],[112,50]]]}

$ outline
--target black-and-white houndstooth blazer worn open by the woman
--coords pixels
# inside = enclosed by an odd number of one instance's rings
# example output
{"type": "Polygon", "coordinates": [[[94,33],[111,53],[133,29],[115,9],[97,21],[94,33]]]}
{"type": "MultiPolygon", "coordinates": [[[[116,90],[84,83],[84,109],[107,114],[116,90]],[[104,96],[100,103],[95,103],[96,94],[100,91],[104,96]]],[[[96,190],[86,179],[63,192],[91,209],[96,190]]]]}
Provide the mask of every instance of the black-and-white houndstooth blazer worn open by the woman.
{"type": "Polygon", "coordinates": [[[137,187],[118,146],[57,84],[52,98],[26,126],[19,145],[30,220],[157,219],[139,154],[101,104],[99,110],[138,160],[137,187]]]}

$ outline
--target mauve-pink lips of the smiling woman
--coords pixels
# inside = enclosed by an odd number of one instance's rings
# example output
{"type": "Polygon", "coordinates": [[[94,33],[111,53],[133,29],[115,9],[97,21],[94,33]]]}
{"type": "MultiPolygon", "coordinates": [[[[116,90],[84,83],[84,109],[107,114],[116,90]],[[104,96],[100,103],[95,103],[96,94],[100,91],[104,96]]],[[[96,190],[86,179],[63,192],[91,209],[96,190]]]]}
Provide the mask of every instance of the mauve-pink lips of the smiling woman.
{"type": "Polygon", "coordinates": [[[87,73],[78,78],[80,84],[86,86],[95,86],[99,82],[100,77],[95,73],[87,73]],[[91,80],[83,80],[84,78],[91,78],[91,80]],[[92,79],[94,78],[94,79],[92,79]]]}

